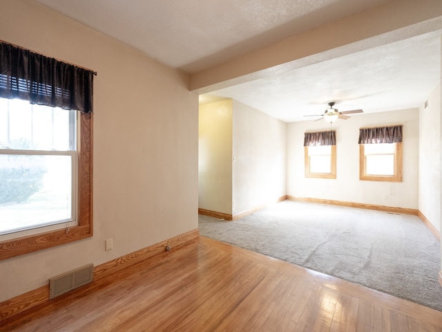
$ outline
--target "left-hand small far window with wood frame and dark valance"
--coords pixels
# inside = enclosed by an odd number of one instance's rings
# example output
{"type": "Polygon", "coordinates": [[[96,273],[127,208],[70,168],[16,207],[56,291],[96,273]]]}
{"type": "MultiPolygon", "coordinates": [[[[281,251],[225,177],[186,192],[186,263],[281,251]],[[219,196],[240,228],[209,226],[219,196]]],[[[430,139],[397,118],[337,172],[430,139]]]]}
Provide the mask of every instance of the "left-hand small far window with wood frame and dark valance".
{"type": "Polygon", "coordinates": [[[336,178],[335,131],[305,133],[306,178],[336,178]]]}

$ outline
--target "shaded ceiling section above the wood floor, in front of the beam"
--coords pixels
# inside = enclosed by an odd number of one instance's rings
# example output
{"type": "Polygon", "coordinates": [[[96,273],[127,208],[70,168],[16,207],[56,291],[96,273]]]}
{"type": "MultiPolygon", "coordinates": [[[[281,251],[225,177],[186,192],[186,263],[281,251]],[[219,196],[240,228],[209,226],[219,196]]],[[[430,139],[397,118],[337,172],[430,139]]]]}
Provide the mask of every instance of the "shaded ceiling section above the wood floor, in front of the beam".
{"type": "Polygon", "coordinates": [[[188,73],[386,0],[35,0],[188,73]]]}

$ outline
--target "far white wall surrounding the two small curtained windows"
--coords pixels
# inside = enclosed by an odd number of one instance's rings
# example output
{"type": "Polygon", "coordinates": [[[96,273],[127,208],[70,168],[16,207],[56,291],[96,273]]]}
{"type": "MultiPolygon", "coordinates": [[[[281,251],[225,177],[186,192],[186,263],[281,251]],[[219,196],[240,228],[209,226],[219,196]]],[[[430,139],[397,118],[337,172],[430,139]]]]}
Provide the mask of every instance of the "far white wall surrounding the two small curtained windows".
{"type": "Polygon", "coordinates": [[[333,123],[336,129],[336,179],[304,177],[304,133],[329,130],[325,121],[288,125],[287,194],[354,203],[418,208],[419,109],[354,115],[333,123]],[[403,124],[403,182],[359,180],[359,128],[403,124]],[[384,196],[387,195],[387,199],[384,196]]]}

